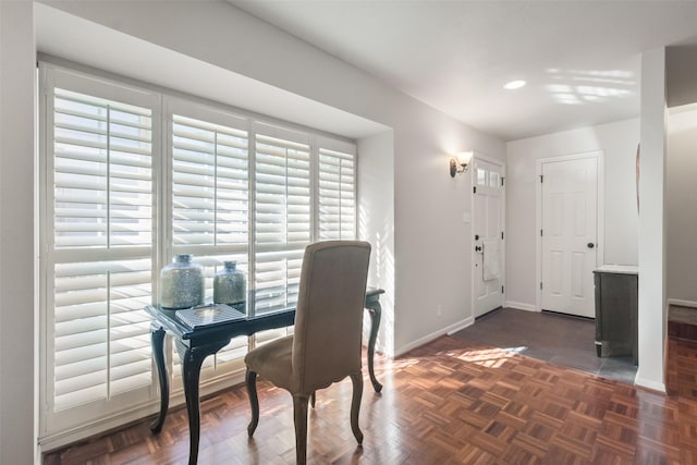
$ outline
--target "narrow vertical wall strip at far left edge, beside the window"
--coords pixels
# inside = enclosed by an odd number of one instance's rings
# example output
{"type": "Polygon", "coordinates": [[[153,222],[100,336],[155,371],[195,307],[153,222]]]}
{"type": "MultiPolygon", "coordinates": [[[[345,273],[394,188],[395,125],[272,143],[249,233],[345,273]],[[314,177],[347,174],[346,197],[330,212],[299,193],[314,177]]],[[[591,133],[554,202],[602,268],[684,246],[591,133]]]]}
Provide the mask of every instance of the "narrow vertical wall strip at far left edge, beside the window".
{"type": "Polygon", "coordinates": [[[36,451],[33,22],[0,1],[0,465],[36,451]]]}

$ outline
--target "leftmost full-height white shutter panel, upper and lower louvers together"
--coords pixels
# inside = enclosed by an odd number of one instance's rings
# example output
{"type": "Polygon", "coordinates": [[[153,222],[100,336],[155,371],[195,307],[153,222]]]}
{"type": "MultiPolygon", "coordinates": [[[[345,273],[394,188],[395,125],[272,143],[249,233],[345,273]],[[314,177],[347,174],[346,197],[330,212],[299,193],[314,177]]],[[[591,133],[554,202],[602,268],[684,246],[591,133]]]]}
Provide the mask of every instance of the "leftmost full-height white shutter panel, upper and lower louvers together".
{"type": "MultiPolygon", "coordinates": [[[[147,400],[157,98],[48,70],[41,230],[50,411],[147,400]],[[139,105],[136,105],[139,103],[139,105]],[[124,397],[125,395],[125,397],[124,397]],[[134,397],[135,395],[135,397],[134,397]]],[[[94,413],[93,413],[94,416],[94,413]]],[[[50,421],[49,421],[50,423],[50,421]]]]}

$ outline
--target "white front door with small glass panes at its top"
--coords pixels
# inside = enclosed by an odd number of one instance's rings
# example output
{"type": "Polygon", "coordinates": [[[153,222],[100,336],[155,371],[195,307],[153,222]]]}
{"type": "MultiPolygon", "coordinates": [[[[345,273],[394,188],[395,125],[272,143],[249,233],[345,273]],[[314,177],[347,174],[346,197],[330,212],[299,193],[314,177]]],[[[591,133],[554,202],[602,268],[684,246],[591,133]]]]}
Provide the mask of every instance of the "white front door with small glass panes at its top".
{"type": "Polygon", "coordinates": [[[473,162],[475,317],[503,305],[503,167],[473,162]]]}

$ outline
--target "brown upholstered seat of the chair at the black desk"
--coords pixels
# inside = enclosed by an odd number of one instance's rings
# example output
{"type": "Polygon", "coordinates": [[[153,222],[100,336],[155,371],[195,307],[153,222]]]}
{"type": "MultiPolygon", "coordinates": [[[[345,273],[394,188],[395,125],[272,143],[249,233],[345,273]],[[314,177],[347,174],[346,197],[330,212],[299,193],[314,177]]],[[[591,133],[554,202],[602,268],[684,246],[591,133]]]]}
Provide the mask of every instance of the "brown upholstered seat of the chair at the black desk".
{"type": "Polygon", "coordinates": [[[247,353],[244,363],[247,368],[266,378],[279,388],[291,391],[293,372],[293,336],[277,339],[247,353]]]}

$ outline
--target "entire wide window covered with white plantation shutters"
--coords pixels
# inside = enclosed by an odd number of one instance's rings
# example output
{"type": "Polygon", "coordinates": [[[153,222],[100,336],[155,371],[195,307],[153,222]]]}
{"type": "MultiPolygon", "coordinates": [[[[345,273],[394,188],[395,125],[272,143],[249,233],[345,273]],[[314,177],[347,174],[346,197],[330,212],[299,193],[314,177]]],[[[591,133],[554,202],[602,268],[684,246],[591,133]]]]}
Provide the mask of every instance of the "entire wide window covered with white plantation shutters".
{"type": "MultiPolygon", "coordinates": [[[[235,260],[248,313],[294,305],[305,246],[356,235],[356,150],[50,64],[40,75],[41,436],[50,436],[157,400],[143,308],[175,254],[204,266],[208,297],[216,270],[235,260]]],[[[201,379],[241,369],[249,344],[286,332],[236,338],[201,379]]],[[[175,381],[178,362],[169,357],[175,381]]]]}

